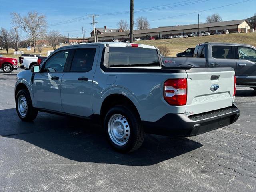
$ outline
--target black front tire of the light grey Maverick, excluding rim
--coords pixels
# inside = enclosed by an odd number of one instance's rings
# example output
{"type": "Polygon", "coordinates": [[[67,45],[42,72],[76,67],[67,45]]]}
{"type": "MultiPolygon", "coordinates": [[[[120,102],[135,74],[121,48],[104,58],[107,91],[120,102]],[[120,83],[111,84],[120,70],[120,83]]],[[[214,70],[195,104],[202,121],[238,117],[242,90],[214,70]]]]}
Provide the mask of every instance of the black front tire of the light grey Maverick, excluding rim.
{"type": "Polygon", "coordinates": [[[26,89],[19,90],[19,92],[16,94],[15,102],[16,102],[17,114],[18,114],[19,118],[22,121],[33,121],[36,118],[36,116],[38,114],[38,110],[33,107],[32,101],[31,101],[31,98],[30,98],[30,94],[29,94],[28,90],[26,90],[26,89]],[[18,108],[18,100],[22,96],[24,96],[24,98],[26,99],[25,104],[26,104],[27,110],[26,110],[26,114],[25,115],[22,115],[19,112],[19,108],[18,108]]]}

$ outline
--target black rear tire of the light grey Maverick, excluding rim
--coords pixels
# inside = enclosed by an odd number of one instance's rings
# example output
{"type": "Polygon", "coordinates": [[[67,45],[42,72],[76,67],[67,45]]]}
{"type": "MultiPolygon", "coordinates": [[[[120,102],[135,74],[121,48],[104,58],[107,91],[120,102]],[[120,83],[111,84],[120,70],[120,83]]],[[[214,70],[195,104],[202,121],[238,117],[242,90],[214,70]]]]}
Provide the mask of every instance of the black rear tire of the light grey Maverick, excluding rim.
{"type": "Polygon", "coordinates": [[[133,152],[140,148],[144,140],[144,130],[142,128],[140,118],[138,117],[138,115],[136,115],[136,113],[133,110],[131,110],[127,106],[117,105],[108,110],[104,119],[104,130],[106,132],[106,136],[108,141],[110,142],[110,145],[118,152],[133,152]],[[114,116],[115,114],[122,115],[129,124],[129,137],[126,141],[126,144],[122,146],[117,145],[113,142],[108,129],[108,123],[110,121],[110,118],[112,118],[112,116],[114,116]]]}

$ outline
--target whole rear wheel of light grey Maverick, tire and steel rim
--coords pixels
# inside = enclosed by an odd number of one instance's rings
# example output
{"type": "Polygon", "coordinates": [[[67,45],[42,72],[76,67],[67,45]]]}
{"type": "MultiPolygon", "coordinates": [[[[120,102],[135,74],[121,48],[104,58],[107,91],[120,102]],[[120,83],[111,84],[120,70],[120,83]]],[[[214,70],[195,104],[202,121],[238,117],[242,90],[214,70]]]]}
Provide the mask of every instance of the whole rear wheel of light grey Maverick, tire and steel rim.
{"type": "Polygon", "coordinates": [[[126,106],[110,108],[104,120],[104,130],[110,145],[118,152],[135,151],[144,140],[139,117],[126,106]]]}

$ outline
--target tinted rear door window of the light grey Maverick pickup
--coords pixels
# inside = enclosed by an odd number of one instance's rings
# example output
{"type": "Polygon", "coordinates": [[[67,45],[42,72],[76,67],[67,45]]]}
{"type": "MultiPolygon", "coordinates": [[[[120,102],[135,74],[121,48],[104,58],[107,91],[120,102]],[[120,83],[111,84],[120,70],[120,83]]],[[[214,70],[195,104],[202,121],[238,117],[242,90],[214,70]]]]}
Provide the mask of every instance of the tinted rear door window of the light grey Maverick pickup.
{"type": "Polygon", "coordinates": [[[70,72],[88,72],[92,70],[96,49],[77,49],[71,64],[70,72]]]}

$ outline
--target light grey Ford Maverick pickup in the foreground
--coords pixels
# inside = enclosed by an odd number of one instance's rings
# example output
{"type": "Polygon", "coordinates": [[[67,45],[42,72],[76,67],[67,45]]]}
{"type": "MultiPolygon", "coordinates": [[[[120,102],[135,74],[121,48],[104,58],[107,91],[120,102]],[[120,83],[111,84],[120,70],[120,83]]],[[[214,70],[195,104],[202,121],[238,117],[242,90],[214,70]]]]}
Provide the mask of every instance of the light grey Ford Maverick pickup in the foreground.
{"type": "Polygon", "coordinates": [[[162,69],[160,52],[148,45],[65,46],[17,75],[16,111],[24,121],[38,111],[94,119],[115,150],[132,152],[144,132],[188,137],[234,123],[234,74],[232,68],[162,69]]]}

